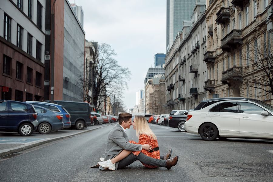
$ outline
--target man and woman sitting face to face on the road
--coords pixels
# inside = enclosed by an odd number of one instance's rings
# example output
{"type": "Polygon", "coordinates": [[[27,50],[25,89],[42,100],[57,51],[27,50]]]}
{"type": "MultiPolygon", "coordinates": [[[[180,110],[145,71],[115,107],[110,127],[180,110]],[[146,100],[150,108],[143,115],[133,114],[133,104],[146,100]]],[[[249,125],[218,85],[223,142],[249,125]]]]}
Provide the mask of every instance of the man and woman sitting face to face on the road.
{"type": "Polygon", "coordinates": [[[139,160],[145,167],[156,168],[166,167],[170,169],[175,166],[178,156],[170,159],[172,150],[160,156],[157,137],[150,129],[144,116],[135,116],[133,129],[139,142],[129,141],[126,135],[126,128],[132,125],[130,113],[120,113],[119,124],[110,131],[107,139],[106,150],[102,161],[98,162],[100,170],[122,169],[136,160],[139,160]]]}

